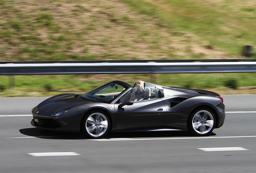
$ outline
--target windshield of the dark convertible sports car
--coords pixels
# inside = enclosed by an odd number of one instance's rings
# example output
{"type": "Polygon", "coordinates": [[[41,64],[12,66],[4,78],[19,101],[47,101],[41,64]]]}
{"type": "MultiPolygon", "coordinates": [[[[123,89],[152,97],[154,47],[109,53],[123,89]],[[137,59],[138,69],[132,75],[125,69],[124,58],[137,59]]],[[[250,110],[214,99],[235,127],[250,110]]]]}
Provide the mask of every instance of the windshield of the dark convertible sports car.
{"type": "Polygon", "coordinates": [[[124,84],[113,82],[97,87],[92,91],[81,95],[81,97],[89,101],[109,103],[127,88],[128,87],[124,84]]]}

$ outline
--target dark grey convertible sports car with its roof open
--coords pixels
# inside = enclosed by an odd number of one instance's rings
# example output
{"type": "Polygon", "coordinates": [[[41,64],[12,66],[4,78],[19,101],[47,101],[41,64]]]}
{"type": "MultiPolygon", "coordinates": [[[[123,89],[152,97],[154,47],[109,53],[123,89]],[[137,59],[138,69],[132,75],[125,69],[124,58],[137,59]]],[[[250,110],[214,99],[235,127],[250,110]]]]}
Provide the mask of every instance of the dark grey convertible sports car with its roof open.
{"type": "Polygon", "coordinates": [[[217,93],[165,87],[144,81],[111,81],[85,94],[50,97],[32,109],[31,125],[41,129],[83,132],[102,138],[109,131],[188,129],[209,135],[223,125],[225,105],[217,93]]]}

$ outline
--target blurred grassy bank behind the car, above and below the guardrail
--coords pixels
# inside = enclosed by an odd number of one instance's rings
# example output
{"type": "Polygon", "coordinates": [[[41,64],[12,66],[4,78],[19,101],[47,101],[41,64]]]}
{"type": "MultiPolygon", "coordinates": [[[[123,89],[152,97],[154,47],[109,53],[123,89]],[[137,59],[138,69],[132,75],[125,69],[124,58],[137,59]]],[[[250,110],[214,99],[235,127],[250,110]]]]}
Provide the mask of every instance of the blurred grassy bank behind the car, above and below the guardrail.
{"type": "MultiPolygon", "coordinates": [[[[0,61],[256,58],[255,0],[0,0],[0,61]],[[250,53],[246,52],[250,46],[250,53]]],[[[0,76],[0,97],[144,80],[256,94],[256,74],[0,76]]]]}

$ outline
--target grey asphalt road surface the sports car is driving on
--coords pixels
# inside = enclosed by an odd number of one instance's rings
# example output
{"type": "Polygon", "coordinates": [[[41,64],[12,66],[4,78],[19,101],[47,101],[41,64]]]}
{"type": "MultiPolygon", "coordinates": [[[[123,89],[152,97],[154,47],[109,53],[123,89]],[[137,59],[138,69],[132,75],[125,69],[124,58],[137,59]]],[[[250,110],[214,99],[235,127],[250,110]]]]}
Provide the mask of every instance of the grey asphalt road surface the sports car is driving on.
{"type": "Polygon", "coordinates": [[[223,98],[225,123],[209,137],[148,131],[102,140],[32,127],[31,109],[45,98],[0,98],[0,173],[256,172],[256,95],[223,98]]]}

